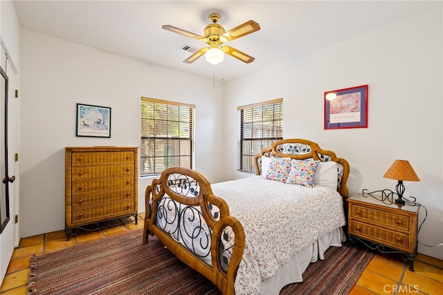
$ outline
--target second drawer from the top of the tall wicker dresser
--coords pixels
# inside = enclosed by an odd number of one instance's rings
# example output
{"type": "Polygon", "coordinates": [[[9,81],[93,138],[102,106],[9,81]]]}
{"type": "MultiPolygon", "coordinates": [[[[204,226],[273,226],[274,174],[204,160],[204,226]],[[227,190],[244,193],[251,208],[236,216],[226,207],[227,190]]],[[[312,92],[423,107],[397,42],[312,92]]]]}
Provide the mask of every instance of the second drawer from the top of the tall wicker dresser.
{"type": "Polygon", "coordinates": [[[75,166],[72,169],[72,180],[127,176],[134,173],[134,164],[75,166]]]}

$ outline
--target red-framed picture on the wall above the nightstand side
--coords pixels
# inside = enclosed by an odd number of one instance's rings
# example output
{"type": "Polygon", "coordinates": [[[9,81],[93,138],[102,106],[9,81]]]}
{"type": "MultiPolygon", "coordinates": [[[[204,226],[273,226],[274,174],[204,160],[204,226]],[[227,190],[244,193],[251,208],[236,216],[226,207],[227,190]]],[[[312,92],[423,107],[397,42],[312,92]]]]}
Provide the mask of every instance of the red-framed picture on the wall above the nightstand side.
{"type": "Polygon", "coordinates": [[[368,85],[325,92],[325,129],[368,128],[368,85]]]}

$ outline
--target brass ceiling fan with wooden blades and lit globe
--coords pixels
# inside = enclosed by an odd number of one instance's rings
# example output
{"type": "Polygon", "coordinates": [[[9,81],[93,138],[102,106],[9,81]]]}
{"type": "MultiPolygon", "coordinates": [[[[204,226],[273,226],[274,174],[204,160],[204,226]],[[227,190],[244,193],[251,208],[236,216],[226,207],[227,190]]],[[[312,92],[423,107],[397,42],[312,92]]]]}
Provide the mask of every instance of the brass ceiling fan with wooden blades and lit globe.
{"type": "Polygon", "coordinates": [[[257,30],[260,30],[260,26],[258,25],[258,23],[252,20],[246,21],[246,23],[243,23],[226,32],[223,26],[217,23],[220,19],[219,15],[213,13],[209,15],[209,19],[210,21],[212,21],[212,23],[208,24],[208,26],[204,28],[204,37],[170,25],[165,25],[161,27],[165,30],[170,30],[171,32],[177,32],[178,34],[185,35],[199,41],[204,41],[206,42],[206,44],[209,45],[208,47],[197,50],[190,57],[185,59],[183,61],[185,64],[190,64],[194,62],[202,55],[205,55],[206,60],[211,64],[219,64],[224,59],[224,53],[235,57],[236,59],[239,59],[246,64],[254,61],[254,58],[251,57],[251,55],[247,55],[246,53],[243,53],[242,51],[230,46],[221,46],[221,44],[224,44],[228,41],[233,41],[239,37],[251,34],[251,32],[256,32],[257,30]]]}

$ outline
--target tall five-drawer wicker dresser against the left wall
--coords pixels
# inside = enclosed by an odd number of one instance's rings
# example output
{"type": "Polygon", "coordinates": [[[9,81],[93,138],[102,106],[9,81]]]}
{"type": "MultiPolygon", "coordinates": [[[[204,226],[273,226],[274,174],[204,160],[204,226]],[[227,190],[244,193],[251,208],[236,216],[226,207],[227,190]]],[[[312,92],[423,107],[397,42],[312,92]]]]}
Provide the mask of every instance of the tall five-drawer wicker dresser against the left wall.
{"type": "Polygon", "coordinates": [[[66,147],[68,240],[77,229],[101,229],[115,218],[134,216],[137,223],[137,154],[138,148],[132,146],[66,147]]]}

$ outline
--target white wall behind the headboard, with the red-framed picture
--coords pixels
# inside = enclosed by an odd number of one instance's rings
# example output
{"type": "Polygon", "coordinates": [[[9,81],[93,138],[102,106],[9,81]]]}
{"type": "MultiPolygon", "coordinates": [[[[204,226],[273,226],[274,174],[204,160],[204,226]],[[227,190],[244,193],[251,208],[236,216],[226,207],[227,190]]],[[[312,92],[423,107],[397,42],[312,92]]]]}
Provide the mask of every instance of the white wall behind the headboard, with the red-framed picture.
{"type": "MultiPolygon", "coordinates": [[[[420,182],[405,182],[405,196],[428,209],[419,242],[443,242],[443,33],[442,9],[225,84],[225,179],[236,169],[237,106],[283,97],[285,138],[318,142],[351,166],[350,195],[362,189],[395,190],[383,178],[395,159],[409,160],[420,182]],[[367,129],[323,129],[323,93],[369,84],[367,129]]],[[[288,50],[288,48],[285,48],[288,50]]],[[[419,211],[419,222],[425,211],[419,211]]],[[[443,259],[442,247],[419,253],[443,259]]]]}

